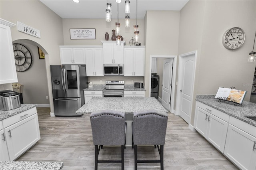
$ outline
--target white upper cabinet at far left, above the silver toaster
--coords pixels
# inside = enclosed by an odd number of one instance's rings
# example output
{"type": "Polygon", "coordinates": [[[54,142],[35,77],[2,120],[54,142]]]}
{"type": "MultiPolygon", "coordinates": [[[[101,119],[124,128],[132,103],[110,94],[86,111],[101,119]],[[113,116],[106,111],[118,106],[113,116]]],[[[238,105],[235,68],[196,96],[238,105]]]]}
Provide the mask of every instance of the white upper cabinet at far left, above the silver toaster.
{"type": "Polygon", "coordinates": [[[11,22],[0,19],[0,84],[18,82],[12,47],[11,22]]]}

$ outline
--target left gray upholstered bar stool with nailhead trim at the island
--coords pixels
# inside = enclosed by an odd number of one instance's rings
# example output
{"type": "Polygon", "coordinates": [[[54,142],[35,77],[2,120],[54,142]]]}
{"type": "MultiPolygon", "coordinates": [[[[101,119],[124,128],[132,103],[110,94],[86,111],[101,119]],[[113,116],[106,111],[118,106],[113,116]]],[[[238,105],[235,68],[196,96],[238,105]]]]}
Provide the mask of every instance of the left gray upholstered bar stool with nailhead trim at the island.
{"type": "Polygon", "coordinates": [[[92,139],[95,149],[95,170],[98,163],[121,163],[124,169],[126,122],[125,114],[119,111],[96,111],[90,115],[92,139]],[[121,160],[98,160],[103,145],[121,145],[121,160]]]}

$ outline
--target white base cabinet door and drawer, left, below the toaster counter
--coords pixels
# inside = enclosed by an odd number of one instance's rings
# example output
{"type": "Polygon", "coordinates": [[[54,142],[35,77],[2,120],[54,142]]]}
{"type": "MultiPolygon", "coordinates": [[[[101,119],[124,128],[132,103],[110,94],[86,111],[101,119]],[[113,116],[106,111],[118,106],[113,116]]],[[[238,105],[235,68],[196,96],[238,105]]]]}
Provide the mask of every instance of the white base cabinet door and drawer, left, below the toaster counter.
{"type": "Polygon", "coordinates": [[[18,158],[40,140],[36,107],[4,119],[2,123],[10,161],[18,158]]]}

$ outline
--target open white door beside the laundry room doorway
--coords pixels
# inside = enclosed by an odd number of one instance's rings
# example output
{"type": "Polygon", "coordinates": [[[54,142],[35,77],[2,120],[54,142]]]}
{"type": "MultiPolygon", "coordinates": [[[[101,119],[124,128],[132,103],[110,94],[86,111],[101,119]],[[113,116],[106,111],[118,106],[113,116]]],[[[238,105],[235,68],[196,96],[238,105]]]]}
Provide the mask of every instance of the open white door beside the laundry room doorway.
{"type": "Polygon", "coordinates": [[[163,84],[162,84],[162,105],[170,111],[171,89],[172,89],[172,58],[164,60],[163,84]]]}

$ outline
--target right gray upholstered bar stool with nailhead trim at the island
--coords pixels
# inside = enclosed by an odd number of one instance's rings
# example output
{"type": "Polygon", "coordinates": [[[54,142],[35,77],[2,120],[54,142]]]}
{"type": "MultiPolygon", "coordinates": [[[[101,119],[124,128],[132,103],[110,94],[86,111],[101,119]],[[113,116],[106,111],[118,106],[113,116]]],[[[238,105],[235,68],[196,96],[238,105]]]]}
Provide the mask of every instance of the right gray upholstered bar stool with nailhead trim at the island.
{"type": "Polygon", "coordinates": [[[167,120],[167,113],[156,110],[134,112],[132,123],[132,147],[134,148],[135,170],[137,170],[137,163],[160,163],[161,170],[164,169],[164,143],[167,120]],[[157,146],[160,159],[138,160],[137,145],[154,145],[155,148],[157,146]]]}

